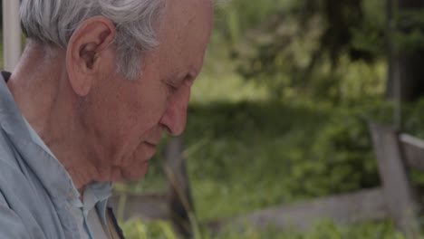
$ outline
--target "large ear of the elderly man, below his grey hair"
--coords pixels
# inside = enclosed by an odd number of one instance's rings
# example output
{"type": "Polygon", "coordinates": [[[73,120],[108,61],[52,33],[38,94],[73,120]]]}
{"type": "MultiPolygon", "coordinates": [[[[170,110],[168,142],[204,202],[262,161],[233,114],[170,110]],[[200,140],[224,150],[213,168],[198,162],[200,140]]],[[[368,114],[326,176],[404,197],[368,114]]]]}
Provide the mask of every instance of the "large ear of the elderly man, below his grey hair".
{"type": "Polygon", "coordinates": [[[85,96],[98,75],[101,52],[113,43],[115,25],[103,16],[85,20],[73,33],[66,48],[66,69],[72,90],[85,96]]]}

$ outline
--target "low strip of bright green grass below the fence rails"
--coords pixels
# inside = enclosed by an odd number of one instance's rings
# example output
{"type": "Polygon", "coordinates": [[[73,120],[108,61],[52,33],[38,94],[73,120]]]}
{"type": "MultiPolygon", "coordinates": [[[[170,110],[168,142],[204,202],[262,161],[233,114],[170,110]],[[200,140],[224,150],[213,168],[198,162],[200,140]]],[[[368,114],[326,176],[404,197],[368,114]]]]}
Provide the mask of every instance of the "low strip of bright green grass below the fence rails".
{"type": "MultiPolygon", "coordinates": [[[[130,220],[123,224],[129,239],[175,239],[171,225],[164,221],[156,223],[130,220]]],[[[310,229],[299,232],[294,229],[284,232],[269,227],[266,230],[257,230],[255,227],[244,225],[237,229],[225,228],[219,233],[202,231],[195,239],[407,239],[393,229],[390,222],[369,222],[358,225],[336,225],[332,221],[322,220],[315,223],[310,229]]]]}

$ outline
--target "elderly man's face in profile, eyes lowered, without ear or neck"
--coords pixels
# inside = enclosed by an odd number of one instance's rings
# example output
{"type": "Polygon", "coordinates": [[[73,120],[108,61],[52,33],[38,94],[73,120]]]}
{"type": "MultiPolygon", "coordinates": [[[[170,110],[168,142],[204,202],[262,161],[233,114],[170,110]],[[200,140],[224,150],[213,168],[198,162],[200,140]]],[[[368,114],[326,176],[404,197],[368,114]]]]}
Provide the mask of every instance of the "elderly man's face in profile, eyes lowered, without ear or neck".
{"type": "Polygon", "coordinates": [[[104,150],[105,180],[143,177],[162,132],[177,136],[186,124],[190,88],[200,72],[212,25],[207,1],[168,1],[159,24],[159,46],[142,59],[140,79],[116,72],[116,55],[101,66],[87,96],[85,122],[104,150]],[[106,172],[108,171],[109,172],[106,172]]]}

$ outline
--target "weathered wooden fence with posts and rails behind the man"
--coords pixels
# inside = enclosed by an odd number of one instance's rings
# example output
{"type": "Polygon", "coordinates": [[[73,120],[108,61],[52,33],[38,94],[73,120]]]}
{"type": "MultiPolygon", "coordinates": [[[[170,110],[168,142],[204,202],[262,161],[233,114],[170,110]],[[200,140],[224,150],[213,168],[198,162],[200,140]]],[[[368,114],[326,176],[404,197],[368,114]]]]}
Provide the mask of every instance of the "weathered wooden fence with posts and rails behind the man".
{"type": "MultiPolygon", "coordinates": [[[[421,202],[411,183],[410,167],[424,171],[424,140],[399,134],[387,126],[370,124],[381,187],[362,189],[340,196],[328,196],[293,205],[274,206],[250,214],[220,218],[205,223],[212,230],[225,225],[249,225],[305,229],[319,219],[332,219],[340,224],[390,218],[408,236],[419,237],[421,202]]],[[[178,139],[180,140],[180,139],[178,139]]],[[[186,165],[181,158],[181,141],[170,145],[167,173],[169,193],[149,196],[126,196],[123,218],[169,219],[179,234],[191,238],[189,214],[194,215],[186,165]],[[174,175],[175,177],[172,177],[174,175]],[[176,177],[178,176],[178,179],[176,177]],[[177,212],[178,216],[175,216],[177,212]],[[180,220],[180,221],[178,221],[180,220]]],[[[118,197],[112,204],[119,206],[118,197]]],[[[122,211],[122,210],[121,210],[122,211]]],[[[192,223],[192,222],[191,222],[192,223]]]]}

